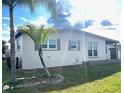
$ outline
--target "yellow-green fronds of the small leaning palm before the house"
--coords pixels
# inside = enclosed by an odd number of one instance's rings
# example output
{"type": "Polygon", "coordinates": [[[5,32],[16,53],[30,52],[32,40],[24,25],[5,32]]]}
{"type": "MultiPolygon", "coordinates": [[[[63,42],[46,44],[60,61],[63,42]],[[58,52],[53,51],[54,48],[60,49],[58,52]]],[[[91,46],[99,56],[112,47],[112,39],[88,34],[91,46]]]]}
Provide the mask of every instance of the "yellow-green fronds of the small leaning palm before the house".
{"type": "Polygon", "coordinates": [[[27,34],[36,44],[41,46],[48,39],[50,34],[57,30],[53,27],[44,28],[44,26],[36,28],[32,24],[28,24],[24,27],[20,27],[19,31],[27,34]]]}

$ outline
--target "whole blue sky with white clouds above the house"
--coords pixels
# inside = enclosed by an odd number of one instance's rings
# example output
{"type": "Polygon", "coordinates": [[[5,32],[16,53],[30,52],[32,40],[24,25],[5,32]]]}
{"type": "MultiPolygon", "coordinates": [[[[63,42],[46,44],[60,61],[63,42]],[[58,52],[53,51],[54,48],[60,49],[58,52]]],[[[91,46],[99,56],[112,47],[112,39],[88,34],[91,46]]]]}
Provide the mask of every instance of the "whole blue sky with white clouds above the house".
{"type": "MultiPolygon", "coordinates": [[[[85,20],[93,20],[85,31],[103,35],[120,41],[120,0],[56,0],[59,13],[69,15],[66,20],[72,26],[85,20]]],[[[61,17],[61,16],[60,16],[61,17]]],[[[14,9],[14,26],[31,22],[35,25],[48,24],[50,13],[38,5],[34,13],[26,6],[16,6],[14,9]]],[[[9,9],[2,6],[2,39],[9,40],[9,9]]]]}

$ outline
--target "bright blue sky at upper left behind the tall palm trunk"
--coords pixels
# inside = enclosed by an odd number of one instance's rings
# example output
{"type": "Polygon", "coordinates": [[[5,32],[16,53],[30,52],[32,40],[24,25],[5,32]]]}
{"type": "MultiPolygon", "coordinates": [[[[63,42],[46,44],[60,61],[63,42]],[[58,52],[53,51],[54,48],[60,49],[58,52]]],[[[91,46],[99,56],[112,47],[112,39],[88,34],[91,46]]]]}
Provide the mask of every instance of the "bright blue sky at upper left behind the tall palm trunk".
{"type": "MultiPolygon", "coordinates": [[[[44,16],[49,18],[50,14],[42,6],[36,7],[34,13],[30,12],[30,9],[26,6],[16,6],[14,9],[14,25],[15,29],[18,26],[25,24],[28,20],[37,20],[37,18],[44,16]]],[[[2,6],[2,39],[9,40],[9,8],[2,6]]]]}

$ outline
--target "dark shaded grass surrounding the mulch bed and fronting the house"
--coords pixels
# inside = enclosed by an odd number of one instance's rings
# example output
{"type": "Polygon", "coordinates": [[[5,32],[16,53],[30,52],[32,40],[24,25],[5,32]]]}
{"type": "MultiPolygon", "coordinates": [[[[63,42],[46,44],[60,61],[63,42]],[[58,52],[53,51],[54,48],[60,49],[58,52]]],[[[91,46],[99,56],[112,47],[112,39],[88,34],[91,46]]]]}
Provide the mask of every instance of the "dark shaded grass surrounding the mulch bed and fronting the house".
{"type": "MultiPolygon", "coordinates": [[[[110,76],[116,72],[119,72],[120,65],[119,64],[106,64],[106,65],[97,65],[97,66],[78,65],[78,66],[70,66],[64,68],[60,67],[49,70],[52,74],[60,74],[64,76],[65,80],[57,85],[45,85],[45,86],[37,85],[23,89],[22,88],[14,89],[9,91],[9,93],[17,93],[16,91],[18,91],[18,93],[42,93],[42,92],[50,92],[53,90],[59,91],[59,90],[67,89],[69,87],[74,87],[94,80],[99,80],[104,77],[110,76]]],[[[41,70],[18,71],[17,76],[18,77],[33,76],[43,73],[44,72],[41,70]]]]}

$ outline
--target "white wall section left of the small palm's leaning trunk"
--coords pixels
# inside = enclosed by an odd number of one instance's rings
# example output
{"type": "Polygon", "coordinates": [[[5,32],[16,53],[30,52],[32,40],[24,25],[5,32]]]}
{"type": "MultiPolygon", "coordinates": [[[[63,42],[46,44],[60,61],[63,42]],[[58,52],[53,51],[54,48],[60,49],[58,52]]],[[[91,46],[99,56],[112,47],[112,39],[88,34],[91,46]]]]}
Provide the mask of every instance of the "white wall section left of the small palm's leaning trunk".
{"type": "Polygon", "coordinates": [[[41,68],[38,52],[34,49],[34,42],[27,35],[23,36],[23,66],[22,69],[41,68]]]}

